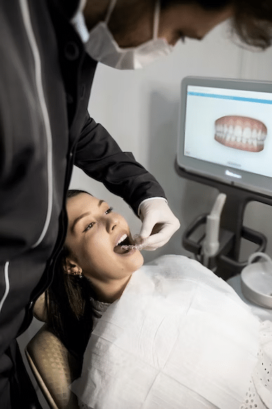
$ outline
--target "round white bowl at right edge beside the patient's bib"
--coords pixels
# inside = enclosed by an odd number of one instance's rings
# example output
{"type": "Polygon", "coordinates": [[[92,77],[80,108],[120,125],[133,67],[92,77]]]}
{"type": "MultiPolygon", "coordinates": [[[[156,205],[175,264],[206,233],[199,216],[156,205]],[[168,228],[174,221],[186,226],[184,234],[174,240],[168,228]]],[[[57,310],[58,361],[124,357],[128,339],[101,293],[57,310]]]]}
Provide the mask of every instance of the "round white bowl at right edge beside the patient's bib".
{"type": "Polygon", "coordinates": [[[241,289],[248,300],[261,307],[272,308],[271,260],[247,265],[241,272],[241,289]]]}

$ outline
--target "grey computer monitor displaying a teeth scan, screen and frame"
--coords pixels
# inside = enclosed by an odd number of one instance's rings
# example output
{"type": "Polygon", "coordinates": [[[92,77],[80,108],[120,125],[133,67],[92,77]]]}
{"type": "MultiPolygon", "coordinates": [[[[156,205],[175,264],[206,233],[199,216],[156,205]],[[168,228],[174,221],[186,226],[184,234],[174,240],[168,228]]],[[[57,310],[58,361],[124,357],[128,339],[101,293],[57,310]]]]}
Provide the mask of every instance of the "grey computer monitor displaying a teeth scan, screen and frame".
{"type": "Polygon", "coordinates": [[[186,77],[177,165],[272,196],[272,83],[186,77]]]}

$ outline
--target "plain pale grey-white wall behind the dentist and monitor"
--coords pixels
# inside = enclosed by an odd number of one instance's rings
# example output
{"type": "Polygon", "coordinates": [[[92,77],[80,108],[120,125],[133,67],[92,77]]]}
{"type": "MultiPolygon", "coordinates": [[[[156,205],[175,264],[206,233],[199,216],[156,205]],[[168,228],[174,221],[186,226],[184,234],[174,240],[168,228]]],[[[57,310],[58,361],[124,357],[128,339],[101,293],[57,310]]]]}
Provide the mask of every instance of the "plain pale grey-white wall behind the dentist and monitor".
{"type": "MultiPolygon", "coordinates": [[[[182,180],[174,171],[182,78],[198,75],[272,80],[272,49],[264,53],[244,51],[228,37],[228,25],[224,23],[201,42],[186,40],[186,44],[176,46],[169,58],[144,70],[121,72],[98,66],[89,103],[90,115],[105,126],[124,151],[132,151],[137,161],[153,173],[181,221],[181,229],[166,246],[144,252],[145,260],[164,253],[189,254],[181,247],[183,229],[197,215],[211,210],[217,194],[215,189],[182,180]]],[[[131,231],[139,231],[141,223],[127,204],[77,168],[71,187],[86,189],[109,201],[127,218],[131,231]]],[[[266,234],[267,252],[272,256],[271,208],[251,203],[245,212],[245,225],[266,234]]],[[[39,322],[34,320],[20,337],[21,348],[39,327],[39,322]]]]}

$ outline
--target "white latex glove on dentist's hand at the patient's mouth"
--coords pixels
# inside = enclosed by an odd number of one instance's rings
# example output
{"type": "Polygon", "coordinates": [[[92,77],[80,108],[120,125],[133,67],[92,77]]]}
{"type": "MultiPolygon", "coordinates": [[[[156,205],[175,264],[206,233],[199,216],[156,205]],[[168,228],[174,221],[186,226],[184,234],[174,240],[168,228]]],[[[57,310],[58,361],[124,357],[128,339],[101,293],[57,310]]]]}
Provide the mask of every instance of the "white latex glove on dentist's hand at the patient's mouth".
{"type": "Polygon", "coordinates": [[[136,244],[141,244],[143,250],[156,250],[164,246],[180,227],[179,220],[163,198],[143,201],[139,207],[139,215],[143,224],[136,244]]]}

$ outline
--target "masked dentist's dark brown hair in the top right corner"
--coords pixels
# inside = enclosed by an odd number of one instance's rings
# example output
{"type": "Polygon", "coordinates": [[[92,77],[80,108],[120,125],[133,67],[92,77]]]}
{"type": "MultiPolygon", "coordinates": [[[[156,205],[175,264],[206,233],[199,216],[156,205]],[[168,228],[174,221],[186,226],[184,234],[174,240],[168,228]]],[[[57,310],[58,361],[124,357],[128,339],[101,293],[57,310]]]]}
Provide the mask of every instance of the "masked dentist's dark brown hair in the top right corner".
{"type": "Polygon", "coordinates": [[[174,4],[198,4],[205,10],[216,11],[233,6],[232,30],[243,43],[266,49],[272,39],[271,0],[160,0],[162,8],[174,4]]]}

